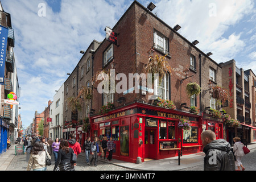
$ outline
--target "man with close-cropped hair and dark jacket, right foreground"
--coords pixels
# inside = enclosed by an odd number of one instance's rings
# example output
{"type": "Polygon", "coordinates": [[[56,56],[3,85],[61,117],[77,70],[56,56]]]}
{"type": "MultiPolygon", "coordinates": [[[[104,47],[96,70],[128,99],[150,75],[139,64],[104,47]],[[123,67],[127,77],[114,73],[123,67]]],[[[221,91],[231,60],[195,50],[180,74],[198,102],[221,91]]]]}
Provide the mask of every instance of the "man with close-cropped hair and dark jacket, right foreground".
{"type": "Polygon", "coordinates": [[[234,155],[229,142],[224,139],[217,139],[212,130],[201,133],[201,140],[204,145],[204,171],[234,171],[234,155]]]}

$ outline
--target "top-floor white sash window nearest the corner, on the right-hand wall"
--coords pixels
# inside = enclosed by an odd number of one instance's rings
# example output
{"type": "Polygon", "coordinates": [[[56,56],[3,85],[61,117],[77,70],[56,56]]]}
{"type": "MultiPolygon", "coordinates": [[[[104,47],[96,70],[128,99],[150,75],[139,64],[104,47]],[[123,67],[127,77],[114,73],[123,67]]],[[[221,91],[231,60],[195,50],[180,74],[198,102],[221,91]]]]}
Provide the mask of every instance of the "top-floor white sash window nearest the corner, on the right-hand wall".
{"type": "Polygon", "coordinates": [[[164,52],[165,54],[168,52],[168,39],[166,36],[160,34],[158,31],[154,32],[154,47],[164,52]]]}

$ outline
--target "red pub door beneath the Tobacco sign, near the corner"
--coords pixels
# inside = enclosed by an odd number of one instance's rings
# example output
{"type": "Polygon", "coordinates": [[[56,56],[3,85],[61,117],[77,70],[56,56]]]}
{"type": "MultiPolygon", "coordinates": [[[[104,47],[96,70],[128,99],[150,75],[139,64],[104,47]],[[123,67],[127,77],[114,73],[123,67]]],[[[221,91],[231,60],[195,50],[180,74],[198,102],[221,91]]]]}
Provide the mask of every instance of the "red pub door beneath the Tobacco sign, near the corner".
{"type": "Polygon", "coordinates": [[[145,129],[144,133],[144,158],[156,159],[157,152],[156,129],[145,129]]]}

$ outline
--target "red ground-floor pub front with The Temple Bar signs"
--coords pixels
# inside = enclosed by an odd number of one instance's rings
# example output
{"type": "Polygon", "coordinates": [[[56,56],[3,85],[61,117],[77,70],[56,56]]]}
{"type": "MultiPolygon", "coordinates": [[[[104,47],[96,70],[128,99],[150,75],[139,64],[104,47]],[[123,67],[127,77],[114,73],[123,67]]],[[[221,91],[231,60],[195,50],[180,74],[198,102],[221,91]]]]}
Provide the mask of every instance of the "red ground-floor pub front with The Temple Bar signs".
{"type": "Polygon", "coordinates": [[[136,163],[137,157],[141,157],[144,162],[177,156],[179,151],[186,155],[202,149],[201,116],[184,111],[135,103],[108,115],[91,117],[90,122],[92,140],[112,137],[113,158],[118,160],[136,163]],[[178,127],[181,118],[191,121],[190,130],[178,127]]]}

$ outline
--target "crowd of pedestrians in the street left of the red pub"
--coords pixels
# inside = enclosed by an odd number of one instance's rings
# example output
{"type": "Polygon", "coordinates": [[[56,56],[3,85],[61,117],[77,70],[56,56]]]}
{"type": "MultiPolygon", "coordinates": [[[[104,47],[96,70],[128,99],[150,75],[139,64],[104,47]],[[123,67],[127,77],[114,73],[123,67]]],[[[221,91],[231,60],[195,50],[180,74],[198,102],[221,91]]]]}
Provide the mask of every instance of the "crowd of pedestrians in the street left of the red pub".
{"type": "MultiPolygon", "coordinates": [[[[28,148],[31,148],[27,171],[31,169],[33,169],[33,171],[46,171],[46,159],[51,159],[51,154],[53,154],[55,159],[53,171],[75,171],[77,155],[81,152],[85,152],[86,164],[91,166],[94,160],[94,166],[97,167],[98,155],[101,153],[101,158],[104,156],[105,160],[111,161],[114,150],[112,137],[109,138],[109,141],[104,137],[102,142],[98,140],[98,137],[94,137],[93,142],[91,142],[90,137],[88,137],[81,147],[73,133],[69,135],[69,140],[56,138],[54,142],[51,138],[26,137],[23,140],[23,144],[25,154],[27,154],[28,148]],[[30,146],[28,146],[28,140],[30,140],[30,146]],[[106,159],[107,151],[109,155],[106,159]],[[89,160],[90,154],[92,155],[91,160],[89,160]]],[[[49,165],[51,164],[48,164],[48,166],[49,165]]]]}

